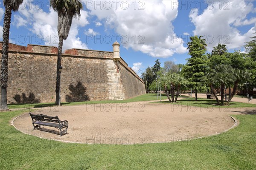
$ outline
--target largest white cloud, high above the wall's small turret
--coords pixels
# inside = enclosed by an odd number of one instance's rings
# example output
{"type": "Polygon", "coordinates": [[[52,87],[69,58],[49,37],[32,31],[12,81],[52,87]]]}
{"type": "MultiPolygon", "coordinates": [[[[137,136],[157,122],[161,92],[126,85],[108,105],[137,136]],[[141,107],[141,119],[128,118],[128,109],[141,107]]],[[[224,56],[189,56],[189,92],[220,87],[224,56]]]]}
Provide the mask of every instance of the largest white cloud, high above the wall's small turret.
{"type": "Polygon", "coordinates": [[[177,0],[83,1],[90,14],[119,34],[125,48],[152,57],[183,54],[183,40],[175,35],[172,21],[178,13],[177,0]],[[101,5],[100,5],[101,4],[101,5]]]}

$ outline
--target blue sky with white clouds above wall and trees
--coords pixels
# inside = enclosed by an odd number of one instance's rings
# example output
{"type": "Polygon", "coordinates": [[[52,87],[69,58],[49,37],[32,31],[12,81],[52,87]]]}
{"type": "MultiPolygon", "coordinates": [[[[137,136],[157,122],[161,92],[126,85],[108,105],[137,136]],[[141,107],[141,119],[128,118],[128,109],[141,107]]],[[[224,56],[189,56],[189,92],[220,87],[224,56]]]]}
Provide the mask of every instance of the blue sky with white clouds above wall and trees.
{"type": "MultiPolygon", "coordinates": [[[[83,0],[80,20],[74,19],[63,49],[112,51],[135,71],[160,62],[186,63],[186,43],[203,35],[208,52],[224,43],[230,52],[244,52],[244,42],[256,31],[255,0],[83,0]]],[[[0,34],[4,6],[0,1],[0,34]]],[[[12,15],[10,41],[58,46],[57,13],[48,0],[24,1],[12,15]]],[[[0,37],[2,38],[2,37],[0,37]]]]}

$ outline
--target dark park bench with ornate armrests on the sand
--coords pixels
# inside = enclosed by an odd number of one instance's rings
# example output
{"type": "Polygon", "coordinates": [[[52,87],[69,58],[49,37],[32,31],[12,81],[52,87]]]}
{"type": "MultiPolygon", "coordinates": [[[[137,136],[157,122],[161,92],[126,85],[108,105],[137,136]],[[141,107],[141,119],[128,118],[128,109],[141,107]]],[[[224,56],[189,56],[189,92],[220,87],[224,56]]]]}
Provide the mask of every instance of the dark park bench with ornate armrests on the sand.
{"type": "Polygon", "coordinates": [[[47,116],[43,114],[31,114],[32,124],[34,129],[41,128],[42,126],[55,127],[61,131],[61,136],[65,133],[67,134],[68,122],[67,120],[61,121],[58,116],[47,116]]]}

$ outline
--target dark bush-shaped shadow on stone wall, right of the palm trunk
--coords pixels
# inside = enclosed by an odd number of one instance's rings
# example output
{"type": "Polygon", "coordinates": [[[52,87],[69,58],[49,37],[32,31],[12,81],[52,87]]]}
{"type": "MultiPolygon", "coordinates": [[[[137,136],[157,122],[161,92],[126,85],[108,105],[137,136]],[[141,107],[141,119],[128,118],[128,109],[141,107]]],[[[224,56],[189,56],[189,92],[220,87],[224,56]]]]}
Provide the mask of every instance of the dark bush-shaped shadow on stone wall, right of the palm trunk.
{"type": "Polygon", "coordinates": [[[66,95],[67,102],[84,102],[90,100],[86,94],[87,88],[80,81],[75,86],[71,83],[68,89],[71,93],[66,95]]]}

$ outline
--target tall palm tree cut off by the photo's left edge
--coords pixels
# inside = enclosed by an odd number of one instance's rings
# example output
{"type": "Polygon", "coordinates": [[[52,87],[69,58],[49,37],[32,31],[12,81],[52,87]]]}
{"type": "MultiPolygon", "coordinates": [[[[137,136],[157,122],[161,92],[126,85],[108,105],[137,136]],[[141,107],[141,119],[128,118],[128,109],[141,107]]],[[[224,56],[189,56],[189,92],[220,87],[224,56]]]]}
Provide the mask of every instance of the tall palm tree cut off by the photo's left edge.
{"type": "Polygon", "coordinates": [[[23,0],[3,0],[5,13],[3,18],[3,48],[1,65],[1,110],[7,110],[7,82],[8,82],[8,49],[12,11],[17,11],[23,0]]]}

